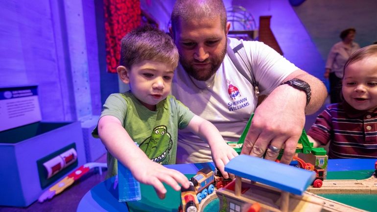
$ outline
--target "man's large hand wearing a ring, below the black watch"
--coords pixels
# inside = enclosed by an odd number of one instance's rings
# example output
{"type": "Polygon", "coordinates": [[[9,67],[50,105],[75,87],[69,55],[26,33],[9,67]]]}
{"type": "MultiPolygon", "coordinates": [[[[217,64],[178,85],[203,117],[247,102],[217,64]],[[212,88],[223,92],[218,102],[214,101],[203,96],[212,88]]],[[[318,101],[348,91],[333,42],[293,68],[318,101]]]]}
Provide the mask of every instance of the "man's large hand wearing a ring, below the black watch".
{"type": "Polygon", "coordinates": [[[305,124],[306,94],[289,85],[276,88],[256,109],[241,154],[289,164],[305,124]],[[282,95],[284,94],[284,95],[282,95]]]}

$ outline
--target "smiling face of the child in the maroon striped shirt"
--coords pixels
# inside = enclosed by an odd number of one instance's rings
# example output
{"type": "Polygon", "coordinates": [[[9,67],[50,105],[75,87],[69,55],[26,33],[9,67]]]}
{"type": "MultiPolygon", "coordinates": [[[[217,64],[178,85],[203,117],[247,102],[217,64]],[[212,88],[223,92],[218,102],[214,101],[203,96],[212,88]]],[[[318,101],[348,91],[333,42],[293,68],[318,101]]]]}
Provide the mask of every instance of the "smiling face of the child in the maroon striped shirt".
{"type": "Polygon", "coordinates": [[[342,80],[344,99],[353,108],[373,111],[377,108],[377,56],[349,65],[342,80]]]}

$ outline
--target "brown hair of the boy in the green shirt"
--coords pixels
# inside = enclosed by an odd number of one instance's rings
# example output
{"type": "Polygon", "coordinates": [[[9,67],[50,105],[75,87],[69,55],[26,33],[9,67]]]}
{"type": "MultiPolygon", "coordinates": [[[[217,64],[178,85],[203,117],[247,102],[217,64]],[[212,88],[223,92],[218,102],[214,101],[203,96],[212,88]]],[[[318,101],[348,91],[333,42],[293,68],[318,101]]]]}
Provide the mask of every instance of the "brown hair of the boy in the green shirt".
{"type": "Polygon", "coordinates": [[[179,54],[173,40],[151,25],[140,26],[125,35],[120,44],[120,65],[131,69],[144,60],[169,64],[177,68],[179,54]]]}

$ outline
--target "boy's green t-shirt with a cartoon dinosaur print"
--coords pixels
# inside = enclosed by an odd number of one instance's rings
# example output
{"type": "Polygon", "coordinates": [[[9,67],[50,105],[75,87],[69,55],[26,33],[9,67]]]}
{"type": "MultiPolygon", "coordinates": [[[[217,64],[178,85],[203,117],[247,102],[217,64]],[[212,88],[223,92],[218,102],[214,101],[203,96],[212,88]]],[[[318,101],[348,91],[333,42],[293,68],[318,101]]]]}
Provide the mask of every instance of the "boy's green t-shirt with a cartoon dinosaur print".
{"type": "MultiPolygon", "coordinates": [[[[145,154],[156,163],[175,164],[178,128],[184,129],[194,114],[174,96],[168,95],[150,111],[130,92],[111,94],[103,105],[103,116],[114,116],[145,154]]],[[[93,136],[98,137],[97,128],[93,136]]],[[[107,177],[117,175],[117,159],[107,153],[107,177]]]]}

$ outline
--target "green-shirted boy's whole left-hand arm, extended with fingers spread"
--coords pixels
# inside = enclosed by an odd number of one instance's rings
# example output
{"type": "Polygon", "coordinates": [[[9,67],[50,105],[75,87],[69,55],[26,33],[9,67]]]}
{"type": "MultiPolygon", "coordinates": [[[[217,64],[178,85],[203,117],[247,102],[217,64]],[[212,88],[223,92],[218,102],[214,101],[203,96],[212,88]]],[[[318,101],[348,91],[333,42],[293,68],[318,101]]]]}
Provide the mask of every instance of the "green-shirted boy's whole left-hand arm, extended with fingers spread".
{"type": "Polygon", "coordinates": [[[107,150],[128,167],[136,180],[152,185],[157,195],[163,199],[166,189],[162,182],[175,190],[189,187],[188,179],[181,172],[166,168],[151,161],[145,153],[135,145],[118,118],[103,116],[98,121],[98,135],[107,150]]]}

